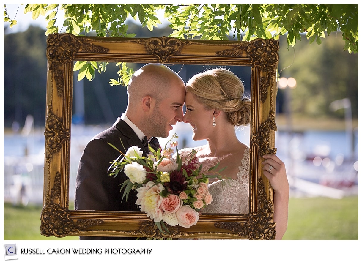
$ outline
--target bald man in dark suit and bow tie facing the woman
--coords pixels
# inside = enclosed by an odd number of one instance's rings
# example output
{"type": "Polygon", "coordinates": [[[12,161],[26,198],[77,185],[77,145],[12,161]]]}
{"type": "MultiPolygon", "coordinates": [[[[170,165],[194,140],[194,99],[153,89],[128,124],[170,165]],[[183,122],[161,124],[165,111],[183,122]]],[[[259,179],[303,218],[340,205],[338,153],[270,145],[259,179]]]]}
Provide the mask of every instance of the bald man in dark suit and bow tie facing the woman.
{"type": "MultiPolygon", "coordinates": [[[[81,156],[75,190],[76,210],[139,211],[136,192],[122,201],[119,185],[126,180],[122,172],[109,176],[110,162],[120,155],[109,144],[126,153],[135,145],[147,156],[147,140],[167,137],[172,125],[182,122],[185,83],[162,64],[146,64],[132,76],[127,86],[126,112],[87,144],[81,156]],[[147,140],[143,141],[145,136],[147,140]],[[125,148],[123,148],[123,146],[125,148]],[[146,143],[143,143],[146,142],[146,143]]],[[[82,239],[135,239],[133,237],[79,237],[82,239]]]]}

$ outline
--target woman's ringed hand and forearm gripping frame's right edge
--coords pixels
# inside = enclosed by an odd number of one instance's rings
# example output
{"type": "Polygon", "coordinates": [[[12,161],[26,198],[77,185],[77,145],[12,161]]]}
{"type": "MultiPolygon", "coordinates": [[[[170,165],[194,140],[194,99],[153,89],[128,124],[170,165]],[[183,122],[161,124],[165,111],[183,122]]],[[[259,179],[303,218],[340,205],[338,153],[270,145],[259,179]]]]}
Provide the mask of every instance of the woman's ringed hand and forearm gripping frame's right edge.
{"type": "Polygon", "coordinates": [[[287,230],[288,224],[288,204],[289,204],[289,183],[285,164],[279,157],[268,154],[263,156],[265,161],[263,174],[269,179],[271,187],[274,189],[274,221],[276,236],[275,239],[281,240],[287,230]],[[270,169],[269,167],[273,168],[270,169]]]}

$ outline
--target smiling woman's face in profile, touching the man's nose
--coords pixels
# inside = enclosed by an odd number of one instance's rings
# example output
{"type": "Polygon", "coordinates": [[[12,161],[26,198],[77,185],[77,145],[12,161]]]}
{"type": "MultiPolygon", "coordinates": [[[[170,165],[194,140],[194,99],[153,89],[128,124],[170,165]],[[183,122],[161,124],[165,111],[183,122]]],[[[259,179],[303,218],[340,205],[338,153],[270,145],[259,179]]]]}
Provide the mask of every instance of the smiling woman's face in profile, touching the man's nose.
{"type": "Polygon", "coordinates": [[[186,92],[185,105],[184,122],[189,123],[192,127],[192,139],[203,140],[209,138],[210,132],[212,132],[213,110],[206,110],[196,100],[194,94],[190,92],[186,92]]]}

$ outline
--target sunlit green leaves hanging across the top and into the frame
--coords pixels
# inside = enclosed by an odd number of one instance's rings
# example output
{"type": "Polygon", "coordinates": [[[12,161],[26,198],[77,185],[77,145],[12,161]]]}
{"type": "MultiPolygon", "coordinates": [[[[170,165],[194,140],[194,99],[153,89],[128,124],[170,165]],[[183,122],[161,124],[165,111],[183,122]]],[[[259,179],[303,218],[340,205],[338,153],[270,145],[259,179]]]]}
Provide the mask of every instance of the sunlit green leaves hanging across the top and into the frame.
{"type": "MultiPolygon", "coordinates": [[[[159,16],[169,22],[173,33],[181,39],[212,39],[249,41],[254,38],[279,39],[287,35],[288,48],[305,35],[310,43],[322,43],[325,34],[341,31],[344,50],[358,52],[357,4],[23,4],[24,13],[35,20],[45,16],[46,34],[67,33],[87,35],[95,32],[101,37],[135,37],[127,32],[126,19],[131,18],[152,31],[161,24],[159,16]],[[63,27],[57,24],[59,9],[63,9],[63,27]],[[162,11],[162,12],[159,12],[162,11]],[[59,29],[60,28],[60,29],[59,29]]],[[[11,19],[4,4],[4,21],[11,19]]],[[[98,64],[98,71],[105,69],[98,64]]],[[[83,68],[84,67],[84,68],[83,68]]],[[[83,77],[94,77],[94,67],[85,63],[83,77]],[[90,75],[89,75],[90,74],[90,75]]],[[[123,72],[126,69],[120,70],[123,72]]],[[[127,71],[127,70],[126,70],[127,71]]],[[[119,75],[121,84],[122,75],[119,75]]],[[[115,83],[116,81],[114,81],[115,83]]]]}

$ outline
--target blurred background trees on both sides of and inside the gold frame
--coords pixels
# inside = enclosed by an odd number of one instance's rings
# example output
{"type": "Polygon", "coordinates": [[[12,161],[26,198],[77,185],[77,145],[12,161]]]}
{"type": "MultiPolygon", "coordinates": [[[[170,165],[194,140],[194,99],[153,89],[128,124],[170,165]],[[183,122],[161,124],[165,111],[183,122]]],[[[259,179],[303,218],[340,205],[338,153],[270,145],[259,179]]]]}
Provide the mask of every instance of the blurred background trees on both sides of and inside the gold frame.
{"type": "MultiPolygon", "coordinates": [[[[169,35],[169,27],[149,31],[129,23],[129,31],[136,37],[161,37],[169,35]]],[[[294,48],[287,48],[280,39],[280,76],[294,77],[297,88],[292,90],[292,111],[308,117],[344,117],[343,110],[332,112],[329,104],[338,99],[349,98],[353,117],[358,109],[358,53],[343,51],[344,42],[337,33],[328,36],[323,46],[309,44],[308,39],[294,48]]],[[[45,30],[30,26],[20,33],[11,33],[4,28],[4,126],[14,122],[24,125],[28,114],[33,115],[35,126],[44,126],[46,112],[46,35],[45,30]]],[[[141,64],[130,64],[134,70],[141,64]]],[[[195,73],[210,68],[209,65],[169,65],[185,80],[195,73]]],[[[250,68],[227,67],[235,72],[250,92],[250,68]]],[[[118,67],[109,65],[105,73],[96,75],[92,81],[83,79],[76,83],[74,76],[73,122],[84,124],[113,123],[127,104],[127,90],[123,86],[110,86],[109,79],[116,79],[118,67]],[[84,100],[77,94],[83,93],[84,100]],[[83,105],[84,101],[84,105],[83,105]],[[84,116],[79,115],[84,111],[84,116]]],[[[77,72],[75,72],[77,73],[77,72]]],[[[277,112],[285,110],[285,90],[279,90],[277,112]]]]}

